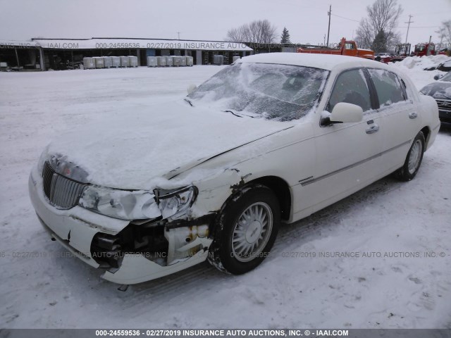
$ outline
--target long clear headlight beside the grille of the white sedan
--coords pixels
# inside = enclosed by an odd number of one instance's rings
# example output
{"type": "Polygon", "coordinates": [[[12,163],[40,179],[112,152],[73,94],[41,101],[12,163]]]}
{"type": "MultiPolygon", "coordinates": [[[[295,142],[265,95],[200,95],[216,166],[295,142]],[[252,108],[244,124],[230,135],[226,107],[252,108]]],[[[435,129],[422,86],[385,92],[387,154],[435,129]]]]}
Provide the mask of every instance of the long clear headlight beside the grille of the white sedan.
{"type": "Polygon", "coordinates": [[[147,191],[126,191],[104,187],[85,188],[78,202],[94,213],[122,220],[145,220],[161,215],[154,194],[147,191]]]}

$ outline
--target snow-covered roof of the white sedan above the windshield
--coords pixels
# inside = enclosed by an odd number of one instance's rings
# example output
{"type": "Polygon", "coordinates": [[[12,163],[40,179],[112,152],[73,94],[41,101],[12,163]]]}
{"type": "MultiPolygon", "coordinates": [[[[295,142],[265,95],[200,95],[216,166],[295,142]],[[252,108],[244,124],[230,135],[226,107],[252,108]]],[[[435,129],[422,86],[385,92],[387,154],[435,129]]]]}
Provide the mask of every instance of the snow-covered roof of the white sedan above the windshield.
{"type": "Polygon", "coordinates": [[[366,58],[330,54],[268,53],[246,56],[241,60],[245,63],[281,63],[284,65],[303,65],[305,67],[321,68],[326,70],[333,70],[333,68],[339,65],[385,68],[382,63],[368,60],[366,58]]]}

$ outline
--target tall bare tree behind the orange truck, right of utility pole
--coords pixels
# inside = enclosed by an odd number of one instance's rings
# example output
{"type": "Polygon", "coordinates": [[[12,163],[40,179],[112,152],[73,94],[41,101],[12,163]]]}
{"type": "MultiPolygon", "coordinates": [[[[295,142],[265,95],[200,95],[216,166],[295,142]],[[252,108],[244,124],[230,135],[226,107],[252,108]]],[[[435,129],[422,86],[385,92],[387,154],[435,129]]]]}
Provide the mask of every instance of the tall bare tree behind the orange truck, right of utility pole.
{"type": "Polygon", "coordinates": [[[395,32],[395,27],[402,13],[401,5],[397,0],[376,0],[371,6],[366,7],[368,17],[360,21],[357,29],[357,43],[364,48],[375,48],[377,51],[387,51],[400,42],[399,33],[395,32]],[[381,33],[383,32],[383,33],[381,33]],[[383,34],[384,43],[380,45],[381,39],[375,44],[376,37],[383,34]]]}

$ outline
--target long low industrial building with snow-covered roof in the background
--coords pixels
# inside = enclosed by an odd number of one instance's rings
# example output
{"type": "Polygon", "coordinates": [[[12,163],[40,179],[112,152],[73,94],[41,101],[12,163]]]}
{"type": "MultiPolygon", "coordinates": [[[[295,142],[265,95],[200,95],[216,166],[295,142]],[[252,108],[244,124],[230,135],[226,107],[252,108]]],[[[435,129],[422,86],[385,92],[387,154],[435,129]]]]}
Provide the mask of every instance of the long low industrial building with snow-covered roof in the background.
{"type": "Polygon", "coordinates": [[[11,70],[64,70],[79,68],[84,57],[137,56],[138,65],[147,65],[147,56],[192,56],[194,65],[232,63],[234,56],[247,56],[252,48],[239,42],[179,39],[43,39],[31,42],[0,40],[1,68],[11,70]]]}

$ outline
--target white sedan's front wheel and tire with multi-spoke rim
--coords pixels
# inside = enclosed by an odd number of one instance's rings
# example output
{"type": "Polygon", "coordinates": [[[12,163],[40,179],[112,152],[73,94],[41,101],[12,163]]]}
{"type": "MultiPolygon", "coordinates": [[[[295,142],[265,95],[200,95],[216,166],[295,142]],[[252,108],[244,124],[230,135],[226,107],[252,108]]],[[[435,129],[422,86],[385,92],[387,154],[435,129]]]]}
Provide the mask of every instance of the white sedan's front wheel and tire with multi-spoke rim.
{"type": "Polygon", "coordinates": [[[279,223],[280,206],[272,190],[261,184],[243,187],[216,219],[209,262],[233,275],[256,268],[269,255],[279,223]]]}

